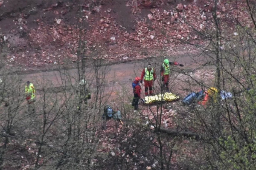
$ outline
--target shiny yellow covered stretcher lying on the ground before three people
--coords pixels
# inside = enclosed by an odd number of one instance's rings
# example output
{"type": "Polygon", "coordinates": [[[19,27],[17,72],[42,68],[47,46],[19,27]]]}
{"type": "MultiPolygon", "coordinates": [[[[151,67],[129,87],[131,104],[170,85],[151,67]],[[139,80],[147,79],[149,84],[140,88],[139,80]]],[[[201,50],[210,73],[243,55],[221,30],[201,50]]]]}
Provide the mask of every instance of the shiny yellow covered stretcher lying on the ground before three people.
{"type": "Polygon", "coordinates": [[[155,102],[172,102],[179,99],[179,96],[176,96],[172,93],[165,93],[165,94],[157,94],[154,96],[145,96],[144,103],[145,104],[152,104],[155,102]]]}

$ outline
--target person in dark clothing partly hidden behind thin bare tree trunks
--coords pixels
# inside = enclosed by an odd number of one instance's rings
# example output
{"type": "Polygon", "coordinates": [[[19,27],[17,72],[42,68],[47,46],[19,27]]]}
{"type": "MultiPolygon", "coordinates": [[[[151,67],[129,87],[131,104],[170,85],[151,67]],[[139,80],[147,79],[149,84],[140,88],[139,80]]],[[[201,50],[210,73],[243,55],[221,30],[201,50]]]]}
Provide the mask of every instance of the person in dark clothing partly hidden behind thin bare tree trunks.
{"type": "Polygon", "coordinates": [[[84,79],[81,79],[79,82],[78,93],[79,93],[79,105],[77,108],[78,110],[80,110],[82,103],[84,102],[84,104],[87,104],[87,100],[91,98],[88,84],[84,79]]]}

